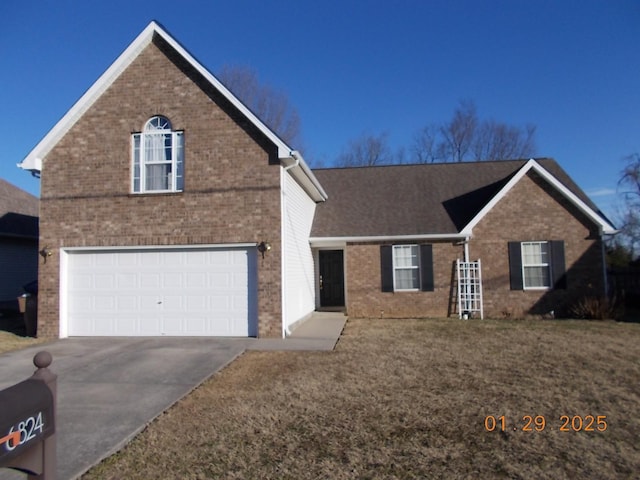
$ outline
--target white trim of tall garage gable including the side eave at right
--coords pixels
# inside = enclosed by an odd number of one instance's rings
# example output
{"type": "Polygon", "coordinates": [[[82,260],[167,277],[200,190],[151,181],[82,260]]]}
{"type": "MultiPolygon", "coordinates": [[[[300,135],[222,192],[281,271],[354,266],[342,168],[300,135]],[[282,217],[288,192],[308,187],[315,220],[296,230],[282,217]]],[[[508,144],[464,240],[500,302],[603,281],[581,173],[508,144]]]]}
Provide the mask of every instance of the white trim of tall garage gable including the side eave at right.
{"type": "Polygon", "coordinates": [[[42,170],[42,160],[65,135],[67,131],[82,117],[93,103],[109,88],[120,74],[133,62],[136,57],[158,36],[193,67],[204,79],[218,90],[238,111],[240,111],[260,132],[262,132],[276,147],[278,158],[287,166],[292,165],[290,173],[302,184],[315,201],[324,201],[327,196],[322,186],[315,178],[302,155],[292,150],[275,132],[273,132],[260,118],[244,105],[231,91],[225,87],[211,72],[198,62],[177,40],[157,22],[151,22],[116,59],[113,64],[98,78],[98,80],[80,97],[71,109],[58,121],[35,148],[18,164],[18,167],[31,172],[42,170]]]}

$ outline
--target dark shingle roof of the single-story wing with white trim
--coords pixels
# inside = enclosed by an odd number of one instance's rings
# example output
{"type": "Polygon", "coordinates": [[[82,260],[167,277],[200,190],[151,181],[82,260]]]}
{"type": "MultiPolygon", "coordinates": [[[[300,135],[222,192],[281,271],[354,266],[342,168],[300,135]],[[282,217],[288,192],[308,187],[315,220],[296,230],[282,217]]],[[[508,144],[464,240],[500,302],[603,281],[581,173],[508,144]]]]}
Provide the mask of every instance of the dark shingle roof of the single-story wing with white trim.
{"type": "Polygon", "coordinates": [[[530,170],[598,224],[615,228],[553,159],[314,170],[329,200],[318,205],[311,241],[459,238],[530,170]]]}

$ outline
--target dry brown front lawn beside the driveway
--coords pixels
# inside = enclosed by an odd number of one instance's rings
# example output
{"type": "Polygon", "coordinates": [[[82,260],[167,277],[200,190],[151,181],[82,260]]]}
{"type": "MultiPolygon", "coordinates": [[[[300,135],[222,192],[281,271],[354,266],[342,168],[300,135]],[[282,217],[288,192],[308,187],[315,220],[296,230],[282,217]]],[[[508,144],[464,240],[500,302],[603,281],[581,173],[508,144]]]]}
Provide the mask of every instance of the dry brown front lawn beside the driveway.
{"type": "Polygon", "coordinates": [[[639,360],[639,324],[350,320],[334,352],[244,354],[83,478],[636,478],[639,360]]]}

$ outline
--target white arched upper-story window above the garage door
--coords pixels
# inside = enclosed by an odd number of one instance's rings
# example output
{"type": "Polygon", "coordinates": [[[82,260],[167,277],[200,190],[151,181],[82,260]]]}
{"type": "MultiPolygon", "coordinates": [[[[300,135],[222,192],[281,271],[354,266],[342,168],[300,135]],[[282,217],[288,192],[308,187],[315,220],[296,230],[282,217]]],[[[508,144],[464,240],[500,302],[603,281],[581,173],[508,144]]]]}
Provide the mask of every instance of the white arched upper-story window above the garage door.
{"type": "Polygon", "coordinates": [[[134,193],[181,192],[184,187],[184,132],[173,131],[165,117],[150,118],[134,133],[134,193]]]}

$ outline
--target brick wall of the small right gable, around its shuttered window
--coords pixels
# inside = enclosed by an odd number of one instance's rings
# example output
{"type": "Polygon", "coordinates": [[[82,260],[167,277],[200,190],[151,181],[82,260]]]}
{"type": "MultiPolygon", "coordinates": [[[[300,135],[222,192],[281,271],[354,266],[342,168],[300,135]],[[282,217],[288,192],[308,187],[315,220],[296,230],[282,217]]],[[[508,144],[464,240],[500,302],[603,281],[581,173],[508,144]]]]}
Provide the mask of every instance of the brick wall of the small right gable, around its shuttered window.
{"type": "Polygon", "coordinates": [[[520,180],[473,230],[472,260],[482,261],[485,316],[566,315],[584,295],[602,295],[597,227],[535,172],[520,180]],[[511,290],[509,241],[563,240],[566,290],[511,290]]]}

